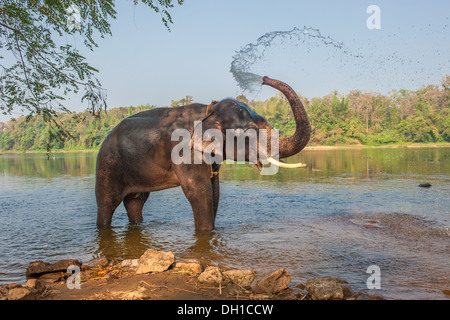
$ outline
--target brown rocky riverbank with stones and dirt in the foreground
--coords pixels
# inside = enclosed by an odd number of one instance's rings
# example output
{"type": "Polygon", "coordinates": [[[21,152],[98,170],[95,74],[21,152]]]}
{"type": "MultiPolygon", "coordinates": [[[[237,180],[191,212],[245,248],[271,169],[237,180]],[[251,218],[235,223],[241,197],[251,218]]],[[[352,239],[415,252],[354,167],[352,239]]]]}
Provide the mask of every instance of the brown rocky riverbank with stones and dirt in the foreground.
{"type": "Polygon", "coordinates": [[[383,299],[368,291],[355,293],[342,279],[321,277],[295,284],[284,268],[259,275],[204,266],[198,260],[178,261],[172,252],[154,249],[132,260],[35,261],[26,275],[25,285],[1,285],[0,300],[383,299]]]}

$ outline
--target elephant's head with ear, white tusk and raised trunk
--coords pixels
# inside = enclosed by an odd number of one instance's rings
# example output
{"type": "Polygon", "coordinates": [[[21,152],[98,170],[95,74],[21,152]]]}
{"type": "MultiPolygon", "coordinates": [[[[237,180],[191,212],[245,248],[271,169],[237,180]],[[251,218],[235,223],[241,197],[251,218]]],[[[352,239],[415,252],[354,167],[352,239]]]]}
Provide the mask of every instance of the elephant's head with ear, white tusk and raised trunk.
{"type": "Polygon", "coordinates": [[[287,164],[276,160],[299,153],[309,141],[311,126],[300,98],[284,82],[263,77],[262,84],[278,89],[289,101],[296,124],[292,136],[279,136],[264,117],[247,105],[234,99],[225,99],[210,105],[206,116],[197,124],[197,129],[201,125],[203,139],[201,144],[194,146],[194,149],[203,154],[210,154],[216,162],[221,162],[222,159],[250,161],[260,170],[262,168],[260,160],[266,160],[279,167],[304,167],[305,165],[301,163],[287,164]],[[264,132],[265,139],[262,137],[264,132]],[[220,139],[222,141],[218,141],[220,139]],[[276,146],[273,139],[277,139],[276,146]],[[239,141],[244,141],[244,148],[239,145],[239,141]],[[264,147],[262,141],[266,144],[264,147]]]}

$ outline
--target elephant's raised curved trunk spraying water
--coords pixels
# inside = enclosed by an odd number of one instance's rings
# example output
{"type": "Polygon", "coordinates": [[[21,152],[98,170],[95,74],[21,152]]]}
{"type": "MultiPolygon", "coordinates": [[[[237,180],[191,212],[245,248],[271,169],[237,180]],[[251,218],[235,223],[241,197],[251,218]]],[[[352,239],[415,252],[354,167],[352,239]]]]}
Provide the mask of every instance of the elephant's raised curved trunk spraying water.
{"type": "Polygon", "coordinates": [[[288,99],[294,114],[295,132],[290,137],[280,136],[279,158],[287,158],[299,153],[308,144],[311,136],[311,125],[308,115],[298,95],[286,83],[269,77],[263,78],[263,83],[281,91],[288,99]]]}

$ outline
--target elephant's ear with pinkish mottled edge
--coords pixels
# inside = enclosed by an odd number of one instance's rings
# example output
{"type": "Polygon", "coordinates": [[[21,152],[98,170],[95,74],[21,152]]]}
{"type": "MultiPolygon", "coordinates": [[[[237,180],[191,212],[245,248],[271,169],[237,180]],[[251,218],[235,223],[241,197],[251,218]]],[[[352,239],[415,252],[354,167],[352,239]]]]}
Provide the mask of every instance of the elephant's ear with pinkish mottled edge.
{"type": "Polygon", "coordinates": [[[207,164],[222,163],[224,142],[222,125],[214,110],[210,111],[201,121],[194,123],[191,148],[194,149],[195,156],[203,156],[202,159],[207,164]]]}

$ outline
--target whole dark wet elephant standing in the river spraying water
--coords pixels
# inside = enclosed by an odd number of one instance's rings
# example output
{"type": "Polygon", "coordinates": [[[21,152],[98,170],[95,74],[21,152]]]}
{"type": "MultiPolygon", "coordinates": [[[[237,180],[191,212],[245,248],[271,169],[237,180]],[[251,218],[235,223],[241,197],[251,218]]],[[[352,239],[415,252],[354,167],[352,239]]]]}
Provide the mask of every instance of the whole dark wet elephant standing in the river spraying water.
{"type": "MultiPolygon", "coordinates": [[[[298,95],[286,83],[263,77],[262,84],[284,94],[291,106],[296,129],[292,136],[278,136],[276,157],[269,157],[269,151],[258,152],[255,164],[259,170],[262,168],[261,161],[280,167],[302,167],[303,164],[287,164],[275,158],[295,155],[309,142],[311,126],[306,110],[298,95]]],[[[122,201],[130,223],[142,222],[142,209],[149,194],[178,186],[181,186],[192,207],[195,230],[211,231],[215,228],[221,163],[175,164],[171,161],[172,150],[178,143],[173,141],[172,133],[176,129],[193,133],[195,123],[202,124],[203,131],[209,128],[222,132],[237,128],[273,129],[264,117],[246,104],[230,98],[210,105],[193,103],[155,108],[122,120],[105,138],[97,155],[95,193],[99,228],[111,225],[114,211],[122,201]]],[[[227,155],[227,143],[224,141],[223,150],[219,150],[223,159],[236,160],[233,158],[236,155],[227,155]]],[[[196,148],[192,141],[190,146],[190,156],[193,157],[196,148]]],[[[202,142],[200,147],[205,146],[207,143],[202,142]]],[[[246,148],[249,149],[248,146],[246,148]]],[[[267,150],[271,148],[270,145],[267,150]]],[[[245,158],[245,161],[249,160],[248,150],[245,158]]]]}

